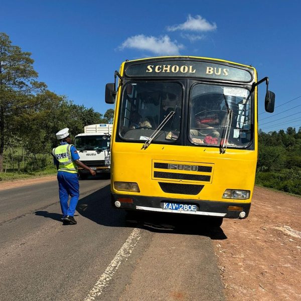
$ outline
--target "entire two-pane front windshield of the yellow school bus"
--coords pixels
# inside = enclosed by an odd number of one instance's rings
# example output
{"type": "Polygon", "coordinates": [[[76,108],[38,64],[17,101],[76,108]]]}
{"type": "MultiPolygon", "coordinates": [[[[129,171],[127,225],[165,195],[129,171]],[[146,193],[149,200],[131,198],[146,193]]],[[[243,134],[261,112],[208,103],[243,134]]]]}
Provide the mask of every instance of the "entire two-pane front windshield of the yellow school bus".
{"type": "MultiPolygon", "coordinates": [[[[250,144],[253,139],[252,98],[248,89],[195,82],[190,90],[188,120],[184,121],[187,127],[183,128],[187,128],[191,144],[219,146],[224,140],[228,147],[250,144]]],[[[183,131],[183,101],[186,101],[183,85],[179,82],[126,84],[121,99],[119,136],[129,141],[147,140],[174,111],[154,141],[175,142],[183,131]]]]}

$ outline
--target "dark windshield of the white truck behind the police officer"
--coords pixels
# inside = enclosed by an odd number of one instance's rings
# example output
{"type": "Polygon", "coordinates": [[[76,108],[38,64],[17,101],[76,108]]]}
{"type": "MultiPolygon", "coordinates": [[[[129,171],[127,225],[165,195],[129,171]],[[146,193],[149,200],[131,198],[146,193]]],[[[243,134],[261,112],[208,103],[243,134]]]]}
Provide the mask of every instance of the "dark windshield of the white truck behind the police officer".
{"type": "Polygon", "coordinates": [[[110,136],[77,136],[75,137],[75,147],[77,150],[104,150],[110,148],[110,136]]]}

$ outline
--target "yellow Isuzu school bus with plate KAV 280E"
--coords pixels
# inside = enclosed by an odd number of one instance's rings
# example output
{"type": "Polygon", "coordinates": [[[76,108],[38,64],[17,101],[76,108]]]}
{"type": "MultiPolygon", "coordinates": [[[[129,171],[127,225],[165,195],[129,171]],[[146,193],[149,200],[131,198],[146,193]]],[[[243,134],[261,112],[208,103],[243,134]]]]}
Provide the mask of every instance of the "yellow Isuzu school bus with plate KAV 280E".
{"type": "Polygon", "coordinates": [[[257,81],[252,66],[192,56],[123,62],[105,91],[115,103],[112,205],[207,216],[214,225],[246,218],[262,82],[265,109],[273,112],[268,78],[257,81]]]}

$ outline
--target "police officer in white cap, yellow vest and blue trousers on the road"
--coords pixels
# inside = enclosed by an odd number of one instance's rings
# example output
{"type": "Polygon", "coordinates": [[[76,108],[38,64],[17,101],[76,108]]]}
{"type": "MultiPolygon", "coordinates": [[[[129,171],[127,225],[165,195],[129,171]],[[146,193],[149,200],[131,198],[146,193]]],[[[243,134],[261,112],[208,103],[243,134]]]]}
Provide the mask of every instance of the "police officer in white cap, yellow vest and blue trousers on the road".
{"type": "Polygon", "coordinates": [[[57,139],[61,140],[58,147],[53,148],[52,154],[58,170],[59,196],[63,213],[64,223],[75,225],[75,208],[79,199],[79,183],[77,166],[90,172],[92,176],[96,173],[91,168],[79,161],[79,155],[69,135],[69,128],[64,128],[56,133],[57,139]],[[71,196],[68,206],[68,199],[71,196]]]}

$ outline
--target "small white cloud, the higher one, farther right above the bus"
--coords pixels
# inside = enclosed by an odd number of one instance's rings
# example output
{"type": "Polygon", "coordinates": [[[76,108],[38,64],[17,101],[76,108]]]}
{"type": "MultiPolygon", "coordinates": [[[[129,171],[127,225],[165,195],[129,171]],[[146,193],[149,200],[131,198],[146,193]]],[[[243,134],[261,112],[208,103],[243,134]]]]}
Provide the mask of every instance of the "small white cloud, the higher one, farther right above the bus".
{"type": "Polygon", "coordinates": [[[197,15],[195,18],[189,15],[186,22],[179,25],[169,26],[167,28],[167,30],[171,32],[177,30],[207,32],[207,31],[213,31],[215,29],[217,29],[215,23],[210,24],[206,19],[202,18],[199,15],[197,15]]]}

